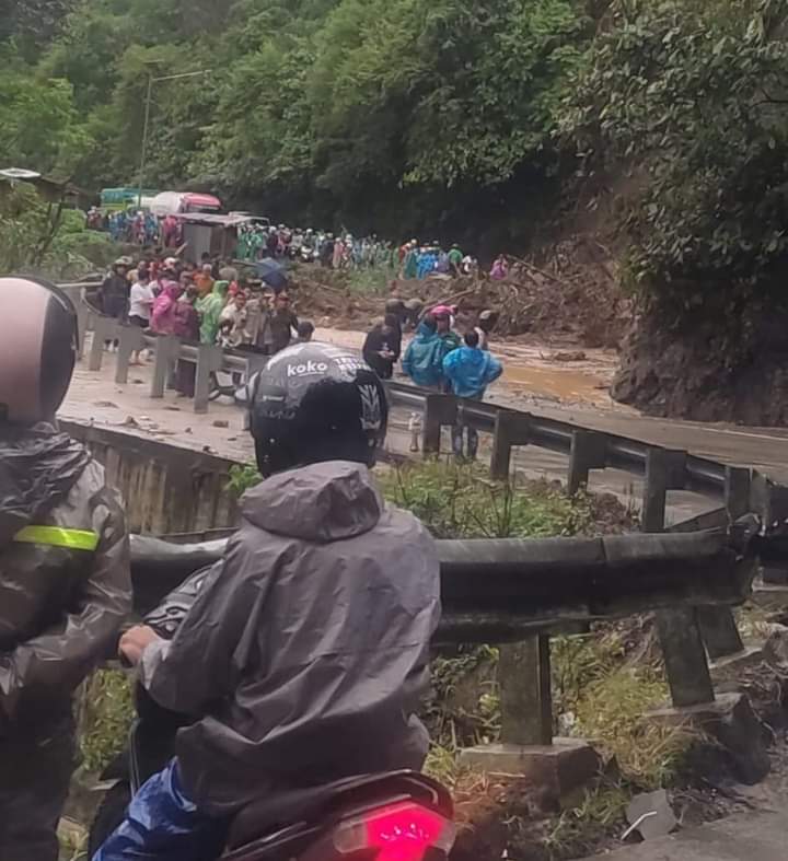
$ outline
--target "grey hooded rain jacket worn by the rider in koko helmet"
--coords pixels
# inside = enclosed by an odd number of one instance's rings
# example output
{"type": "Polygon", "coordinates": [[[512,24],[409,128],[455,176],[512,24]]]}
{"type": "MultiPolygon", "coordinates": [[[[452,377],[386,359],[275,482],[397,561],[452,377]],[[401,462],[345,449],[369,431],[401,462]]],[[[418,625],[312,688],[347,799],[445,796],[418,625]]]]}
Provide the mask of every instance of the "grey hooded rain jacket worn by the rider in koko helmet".
{"type": "Polygon", "coordinates": [[[160,705],[198,718],[176,744],[192,798],[228,814],[276,789],[419,768],[432,538],[356,463],[274,476],[242,514],[175,638],[141,663],[160,705]]]}

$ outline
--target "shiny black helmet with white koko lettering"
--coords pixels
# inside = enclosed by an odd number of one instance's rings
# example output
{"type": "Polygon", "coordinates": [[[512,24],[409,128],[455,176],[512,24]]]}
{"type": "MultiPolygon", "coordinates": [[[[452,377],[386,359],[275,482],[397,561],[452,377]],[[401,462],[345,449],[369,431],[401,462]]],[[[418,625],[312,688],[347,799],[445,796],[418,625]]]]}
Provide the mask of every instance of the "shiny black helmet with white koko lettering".
{"type": "Polygon", "coordinates": [[[383,384],[362,359],[310,341],[278,352],[250,382],[250,430],[264,476],[323,461],[373,466],[389,422],[383,384]]]}

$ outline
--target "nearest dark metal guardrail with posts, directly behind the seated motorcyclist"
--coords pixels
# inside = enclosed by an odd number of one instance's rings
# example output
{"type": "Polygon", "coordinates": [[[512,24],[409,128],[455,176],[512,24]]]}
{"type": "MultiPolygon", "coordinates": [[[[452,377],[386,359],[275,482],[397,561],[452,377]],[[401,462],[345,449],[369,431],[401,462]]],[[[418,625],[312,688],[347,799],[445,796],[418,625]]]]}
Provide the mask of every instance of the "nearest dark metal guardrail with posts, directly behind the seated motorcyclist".
{"type": "MultiPolygon", "coordinates": [[[[567,626],[670,608],[681,636],[663,640],[673,703],[712,702],[694,605],[740,604],[756,571],[746,528],[683,535],[533,540],[439,540],[443,616],[436,644],[501,644],[502,741],[553,741],[549,637],[567,626]],[[507,645],[519,643],[519,645],[507,645]],[[524,651],[524,644],[529,644],[524,651]],[[507,653],[507,650],[512,650],[507,653]]],[[[131,538],[135,609],[149,613],[192,573],[221,559],[227,539],[178,545],[131,538]]],[[[781,548],[788,550],[788,546],[781,548]]],[[[177,605],[177,602],[176,602],[177,605]]],[[[673,617],[671,617],[673,618],[673,617]]]]}

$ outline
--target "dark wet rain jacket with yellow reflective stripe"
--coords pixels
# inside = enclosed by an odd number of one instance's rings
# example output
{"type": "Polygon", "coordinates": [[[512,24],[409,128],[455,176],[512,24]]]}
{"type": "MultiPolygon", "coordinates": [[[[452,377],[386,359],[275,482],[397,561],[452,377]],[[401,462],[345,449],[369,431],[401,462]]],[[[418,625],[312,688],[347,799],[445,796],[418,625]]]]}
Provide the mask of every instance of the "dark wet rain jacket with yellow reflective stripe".
{"type": "Polygon", "coordinates": [[[112,653],[130,595],[124,515],[103,468],[51,426],[0,430],[0,721],[30,726],[68,703],[112,653]],[[42,526],[89,544],[15,539],[42,526]]]}

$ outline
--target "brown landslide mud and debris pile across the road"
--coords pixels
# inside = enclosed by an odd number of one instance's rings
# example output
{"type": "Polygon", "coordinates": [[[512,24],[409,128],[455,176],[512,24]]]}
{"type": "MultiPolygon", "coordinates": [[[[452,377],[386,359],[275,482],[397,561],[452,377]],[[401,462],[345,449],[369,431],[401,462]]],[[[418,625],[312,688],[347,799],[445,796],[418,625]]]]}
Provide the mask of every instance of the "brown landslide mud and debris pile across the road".
{"type": "MultiPolygon", "coordinates": [[[[372,280],[372,279],[371,279],[372,280]]],[[[380,281],[380,279],[378,279],[380,281]]],[[[461,326],[478,314],[498,315],[499,336],[533,335],[583,347],[616,347],[630,318],[610,253],[588,236],[575,236],[532,260],[509,257],[503,280],[473,277],[392,278],[366,290],[358,274],[299,267],[292,276],[300,315],[335,328],[366,328],[383,313],[385,300],[419,299],[425,309],[456,305],[461,326]]]]}

